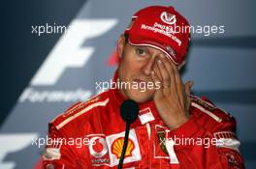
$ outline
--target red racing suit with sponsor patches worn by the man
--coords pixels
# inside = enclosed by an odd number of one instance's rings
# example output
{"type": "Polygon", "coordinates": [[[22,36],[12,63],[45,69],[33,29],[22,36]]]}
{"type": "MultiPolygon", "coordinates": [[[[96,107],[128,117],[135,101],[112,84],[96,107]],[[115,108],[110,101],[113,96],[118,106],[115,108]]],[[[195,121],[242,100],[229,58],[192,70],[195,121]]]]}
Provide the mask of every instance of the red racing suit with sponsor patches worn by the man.
{"type": "MultiPolygon", "coordinates": [[[[123,168],[244,168],[235,119],[208,99],[191,99],[190,119],[176,129],[165,126],[153,101],[139,105],[123,168]]],[[[44,167],[117,168],[125,130],[119,113],[123,100],[117,89],[110,89],[50,122],[44,167]]]]}

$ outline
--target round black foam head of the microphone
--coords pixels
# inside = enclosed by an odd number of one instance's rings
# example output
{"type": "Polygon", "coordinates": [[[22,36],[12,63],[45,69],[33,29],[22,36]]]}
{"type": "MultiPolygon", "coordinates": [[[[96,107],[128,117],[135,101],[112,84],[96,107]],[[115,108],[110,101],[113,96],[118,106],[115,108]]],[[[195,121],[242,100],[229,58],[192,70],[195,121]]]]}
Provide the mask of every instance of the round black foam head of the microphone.
{"type": "Polygon", "coordinates": [[[127,123],[133,123],[138,118],[139,109],[139,105],[135,100],[124,100],[120,107],[122,119],[127,123]]]}

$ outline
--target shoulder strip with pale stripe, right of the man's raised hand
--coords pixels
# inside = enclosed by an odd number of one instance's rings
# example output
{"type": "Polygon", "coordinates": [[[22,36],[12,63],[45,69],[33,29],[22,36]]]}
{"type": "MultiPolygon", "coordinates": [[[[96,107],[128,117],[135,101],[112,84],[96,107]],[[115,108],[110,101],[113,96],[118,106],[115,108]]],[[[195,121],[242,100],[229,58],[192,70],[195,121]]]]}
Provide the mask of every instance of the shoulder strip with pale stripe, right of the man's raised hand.
{"type": "Polygon", "coordinates": [[[200,113],[207,115],[208,117],[214,119],[216,122],[228,122],[234,121],[235,118],[227,113],[225,110],[215,106],[208,98],[206,97],[196,97],[191,96],[191,106],[199,110],[200,113]]]}

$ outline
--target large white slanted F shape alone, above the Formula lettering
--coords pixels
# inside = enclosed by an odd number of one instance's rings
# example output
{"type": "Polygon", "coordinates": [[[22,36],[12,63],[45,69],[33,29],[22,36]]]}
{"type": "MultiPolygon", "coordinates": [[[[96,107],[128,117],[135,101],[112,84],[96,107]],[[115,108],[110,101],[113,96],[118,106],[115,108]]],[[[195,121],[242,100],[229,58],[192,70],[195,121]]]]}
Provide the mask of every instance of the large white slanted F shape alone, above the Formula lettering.
{"type": "Polygon", "coordinates": [[[107,33],[116,22],[116,19],[75,19],[71,28],[50,51],[30,84],[54,85],[67,68],[84,66],[92,56],[94,47],[81,48],[81,44],[107,33]]]}

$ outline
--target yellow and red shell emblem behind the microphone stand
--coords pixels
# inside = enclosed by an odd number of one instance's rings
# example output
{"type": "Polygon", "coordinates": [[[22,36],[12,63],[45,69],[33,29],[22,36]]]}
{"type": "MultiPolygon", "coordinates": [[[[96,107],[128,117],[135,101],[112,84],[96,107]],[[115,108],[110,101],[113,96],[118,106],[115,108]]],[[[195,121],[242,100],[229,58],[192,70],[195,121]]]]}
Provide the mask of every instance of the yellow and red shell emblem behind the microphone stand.
{"type": "MultiPolygon", "coordinates": [[[[116,158],[120,158],[122,154],[124,138],[120,137],[113,141],[112,143],[112,154],[116,155],[116,158]]],[[[132,156],[132,152],[135,149],[135,145],[131,139],[128,140],[127,149],[124,157],[132,156]]]]}

